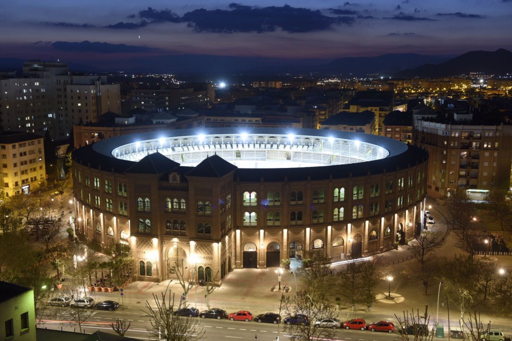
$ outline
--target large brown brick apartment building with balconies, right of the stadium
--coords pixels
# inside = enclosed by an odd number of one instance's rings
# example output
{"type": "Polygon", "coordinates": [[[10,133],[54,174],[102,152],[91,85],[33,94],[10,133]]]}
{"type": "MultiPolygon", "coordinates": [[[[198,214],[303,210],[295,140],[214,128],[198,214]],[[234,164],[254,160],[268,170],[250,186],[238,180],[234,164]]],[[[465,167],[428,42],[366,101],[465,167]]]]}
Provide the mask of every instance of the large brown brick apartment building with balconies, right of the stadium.
{"type": "Polygon", "coordinates": [[[433,198],[465,188],[481,198],[493,188],[509,188],[512,125],[481,117],[439,101],[437,118],[414,115],[414,144],[429,153],[427,194],[433,198]]]}

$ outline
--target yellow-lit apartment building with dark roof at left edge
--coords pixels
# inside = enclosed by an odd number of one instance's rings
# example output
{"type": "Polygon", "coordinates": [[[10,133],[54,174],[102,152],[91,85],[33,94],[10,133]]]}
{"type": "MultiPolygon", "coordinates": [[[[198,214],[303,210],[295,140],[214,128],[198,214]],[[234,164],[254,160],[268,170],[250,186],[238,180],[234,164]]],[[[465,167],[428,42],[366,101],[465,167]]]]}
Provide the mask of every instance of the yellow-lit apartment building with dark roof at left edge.
{"type": "Polygon", "coordinates": [[[46,181],[43,138],[25,132],[0,134],[0,198],[30,193],[46,181]]]}

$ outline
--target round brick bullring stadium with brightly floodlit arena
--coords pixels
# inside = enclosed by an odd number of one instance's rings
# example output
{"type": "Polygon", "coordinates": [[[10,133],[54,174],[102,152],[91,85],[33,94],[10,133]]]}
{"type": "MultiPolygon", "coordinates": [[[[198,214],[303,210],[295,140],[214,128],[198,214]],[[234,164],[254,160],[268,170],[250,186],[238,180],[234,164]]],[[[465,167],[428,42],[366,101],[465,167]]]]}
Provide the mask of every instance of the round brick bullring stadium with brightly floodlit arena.
{"type": "Polygon", "coordinates": [[[79,230],[131,245],[139,280],[221,283],[304,251],[333,261],[417,233],[423,150],[329,130],[220,128],[123,135],[73,153],[79,230]]]}

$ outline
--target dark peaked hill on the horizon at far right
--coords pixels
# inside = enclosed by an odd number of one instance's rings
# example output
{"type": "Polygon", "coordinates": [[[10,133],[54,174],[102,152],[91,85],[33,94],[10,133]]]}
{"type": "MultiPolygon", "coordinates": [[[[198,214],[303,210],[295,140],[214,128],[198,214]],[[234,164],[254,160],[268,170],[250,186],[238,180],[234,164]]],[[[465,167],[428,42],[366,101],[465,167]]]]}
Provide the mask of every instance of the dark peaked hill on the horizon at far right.
{"type": "Polygon", "coordinates": [[[499,49],[494,52],[472,51],[439,63],[422,65],[398,73],[399,77],[447,77],[470,72],[504,74],[512,72],[512,52],[499,49]]]}

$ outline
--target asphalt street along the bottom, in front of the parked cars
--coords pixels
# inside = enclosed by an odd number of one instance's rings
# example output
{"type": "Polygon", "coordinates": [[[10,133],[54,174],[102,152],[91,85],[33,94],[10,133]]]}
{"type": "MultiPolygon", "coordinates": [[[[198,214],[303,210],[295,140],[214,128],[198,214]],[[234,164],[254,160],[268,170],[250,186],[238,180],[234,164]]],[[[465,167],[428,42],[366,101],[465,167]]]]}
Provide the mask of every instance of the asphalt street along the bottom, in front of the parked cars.
{"type": "MultiPolygon", "coordinates": [[[[50,308],[53,309],[53,308],[50,308]]],[[[64,316],[65,312],[61,314],[64,316]]],[[[150,326],[148,318],[140,308],[121,307],[115,312],[110,311],[93,311],[87,322],[82,324],[82,329],[90,334],[96,330],[114,333],[110,327],[111,323],[116,322],[116,318],[124,319],[131,323],[130,329],[125,336],[147,340],[150,334],[146,330],[146,326],[150,326]]],[[[194,318],[194,317],[193,317],[194,318]]],[[[65,318],[63,318],[65,320],[65,318]]],[[[200,319],[201,327],[204,328],[205,340],[254,340],[257,336],[258,341],[274,341],[278,336],[278,326],[269,323],[239,322],[228,321],[227,319],[217,320],[211,318],[200,319]]],[[[38,326],[40,328],[61,329],[62,321],[45,319],[45,322],[38,326]]],[[[78,325],[63,325],[63,330],[78,331],[78,325]]],[[[279,339],[289,340],[291,335],[282,331],[283,325],[280,326],[279,339]]],[[[344,330],[338,329],[336,337],[331,341],[391,341],[396,334],[388,334],[383,332],[372,333],[370,331],[360,330],[344,330]]]]}

